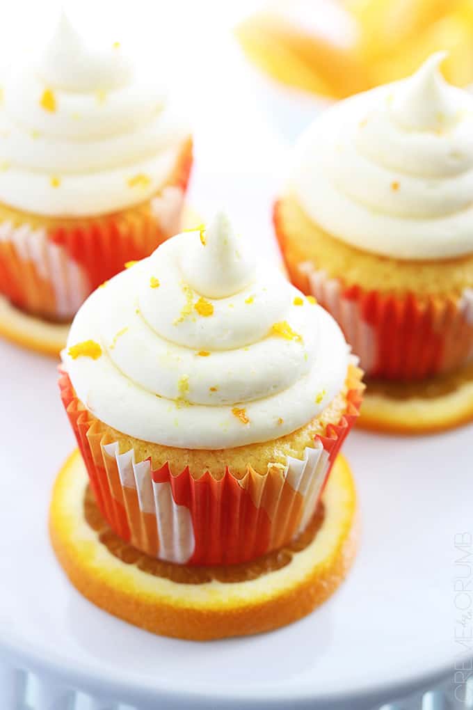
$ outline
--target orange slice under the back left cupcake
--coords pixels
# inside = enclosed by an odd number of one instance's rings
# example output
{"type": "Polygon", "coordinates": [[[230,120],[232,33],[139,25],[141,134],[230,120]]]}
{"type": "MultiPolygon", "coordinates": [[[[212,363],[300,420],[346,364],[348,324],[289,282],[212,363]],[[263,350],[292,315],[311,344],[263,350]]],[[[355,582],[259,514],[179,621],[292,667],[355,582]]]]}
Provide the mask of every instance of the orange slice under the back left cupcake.
{"type": "MultiPolygon", "coordinates": [[[[199,215],[184,207],[183,226],[199,223],[199,215]]],[[[57,357],[65,347],[70,323],[54,323],[30,315],[0,295],[0,336],[28,350],[57,357]]]]}

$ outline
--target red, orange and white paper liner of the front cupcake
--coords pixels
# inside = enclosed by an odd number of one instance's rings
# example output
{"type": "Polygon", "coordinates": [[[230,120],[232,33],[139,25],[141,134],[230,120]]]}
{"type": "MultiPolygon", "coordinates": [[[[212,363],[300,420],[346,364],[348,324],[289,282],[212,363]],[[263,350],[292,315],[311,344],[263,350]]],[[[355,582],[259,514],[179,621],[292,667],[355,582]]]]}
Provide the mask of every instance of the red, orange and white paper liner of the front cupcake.
{"type": "Polygon", "coordinates": [[[347,411],[317,436],[304,459],[258,474],[236,476],[229,466],[216,479],[188,467],[152,469],[135,451],[120,452],[108,427],[85,410],[69,377],[60,390],[102,515],[117,535],[152,557],[190,565],[238,564],[277,550],[304,530],[331,466],[361,403],[360,371],[347,393],[347,411]],[[353,387],[353,388],[352,388],[353,387]]]}

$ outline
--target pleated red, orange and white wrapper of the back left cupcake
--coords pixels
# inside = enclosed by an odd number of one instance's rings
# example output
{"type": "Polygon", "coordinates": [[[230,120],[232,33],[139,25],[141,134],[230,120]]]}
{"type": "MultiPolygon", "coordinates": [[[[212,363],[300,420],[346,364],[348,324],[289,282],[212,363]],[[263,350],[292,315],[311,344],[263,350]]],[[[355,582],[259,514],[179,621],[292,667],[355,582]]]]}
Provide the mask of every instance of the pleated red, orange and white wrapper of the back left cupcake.
{"type": "Polygon", "coordinates": [[[71,320],[87,296],[127,261],[149,256],[179,231],[191,164],[189,140],[160,192],[122,212],[38,224],[4,219],[0,294],[32,315],[71,320]]]}

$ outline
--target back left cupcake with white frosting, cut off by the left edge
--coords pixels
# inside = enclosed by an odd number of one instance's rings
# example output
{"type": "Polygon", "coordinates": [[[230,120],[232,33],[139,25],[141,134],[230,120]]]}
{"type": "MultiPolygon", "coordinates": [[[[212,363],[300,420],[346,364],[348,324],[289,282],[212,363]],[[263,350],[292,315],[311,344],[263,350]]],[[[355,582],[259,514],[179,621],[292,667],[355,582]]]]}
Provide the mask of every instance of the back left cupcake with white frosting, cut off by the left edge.
{"type": "Polygon", "coordinates": [[[0,295],[71,320],[179,229],[191,146],[120,43],[89,48],[62,14],[42,53],[1,85],[0,295]]]}

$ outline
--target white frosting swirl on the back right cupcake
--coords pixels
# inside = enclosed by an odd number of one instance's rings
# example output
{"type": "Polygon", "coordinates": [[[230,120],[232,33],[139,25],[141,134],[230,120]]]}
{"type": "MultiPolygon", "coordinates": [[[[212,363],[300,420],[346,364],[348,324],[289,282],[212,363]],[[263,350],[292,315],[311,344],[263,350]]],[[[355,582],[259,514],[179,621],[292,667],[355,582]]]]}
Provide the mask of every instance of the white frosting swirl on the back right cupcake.
{"type": "Polygon", "coordinates": [[[325,231],[393,258],[473,251],[473,96],[445,82],[444,56],[336,104],[302,136],[291,189],[325,231]]]}

